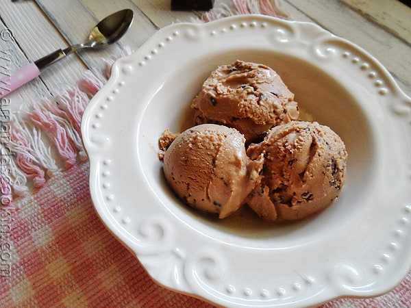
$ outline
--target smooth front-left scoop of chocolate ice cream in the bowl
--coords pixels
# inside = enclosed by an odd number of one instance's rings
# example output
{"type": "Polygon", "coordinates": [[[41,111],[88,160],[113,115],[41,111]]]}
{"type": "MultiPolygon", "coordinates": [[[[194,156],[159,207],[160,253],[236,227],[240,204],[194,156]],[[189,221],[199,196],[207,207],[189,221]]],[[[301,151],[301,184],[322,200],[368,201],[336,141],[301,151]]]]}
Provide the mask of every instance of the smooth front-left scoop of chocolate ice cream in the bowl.
{"type": "Polygon", "coordinates": [[[164,175],[188,205],[225,218],[258,183],[262,155],[251,161],[245,138],[222,125],[197,125],[181,133],[164,153],[164,175]]]}

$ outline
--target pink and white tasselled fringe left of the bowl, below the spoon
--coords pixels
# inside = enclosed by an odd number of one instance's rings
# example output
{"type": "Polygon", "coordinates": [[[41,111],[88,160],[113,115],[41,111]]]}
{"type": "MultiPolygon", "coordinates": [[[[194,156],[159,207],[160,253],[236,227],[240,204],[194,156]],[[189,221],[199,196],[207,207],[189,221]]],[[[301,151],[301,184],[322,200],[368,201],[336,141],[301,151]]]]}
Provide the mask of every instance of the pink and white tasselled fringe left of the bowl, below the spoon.
{"type": "Polygon", "coordinates": [[[8,168],[2,168],[0,176],[1,191],[10,194],[2,193],[1,198],[12,201],[24,196],[30,188],[41,188],[47,179],[87,160],[81,138],[82,114],[102,86],[103,81],[87,70],[76,86],[12,115],[10,138],[1,145],[2,159],[4,153],[10,153],[8,168]]]}

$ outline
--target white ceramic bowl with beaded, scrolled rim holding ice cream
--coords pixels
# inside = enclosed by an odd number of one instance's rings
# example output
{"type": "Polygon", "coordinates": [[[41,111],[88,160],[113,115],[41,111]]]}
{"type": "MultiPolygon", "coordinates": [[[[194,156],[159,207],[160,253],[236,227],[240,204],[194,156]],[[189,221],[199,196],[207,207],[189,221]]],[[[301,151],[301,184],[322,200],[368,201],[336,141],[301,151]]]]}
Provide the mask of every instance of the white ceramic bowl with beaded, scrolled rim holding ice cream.
{"type": "Polygon", "coordinates": [[[234,16],[160,29],[118,60],[82,122],[105,225],[173,290],[227,307],[299,307],[388,292],[411,266],[411,99],[369,53],[310,23],[234,16]],[[334,205],[266,224],[188,209],[162,176],[158,138],[188,125],[209,73],[234,60],[282,76],[349,153],[334,205]]]}

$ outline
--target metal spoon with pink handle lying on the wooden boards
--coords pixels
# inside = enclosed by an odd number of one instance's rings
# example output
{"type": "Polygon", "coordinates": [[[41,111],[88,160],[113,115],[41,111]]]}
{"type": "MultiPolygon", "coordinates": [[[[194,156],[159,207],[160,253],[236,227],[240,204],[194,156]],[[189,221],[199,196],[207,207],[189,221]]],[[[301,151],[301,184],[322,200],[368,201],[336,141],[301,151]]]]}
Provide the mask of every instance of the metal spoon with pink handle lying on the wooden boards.
{"type": "Polygon", "coordinates": [[[84,48],[100,49],[116,42],[132,25],[133,18],[134,12],[132,10],[125,9],[115,12],[105,17],[91,30],[86,42],[54,51],[34,63],[19,68],[10,77],[0,79],[0,99],[38,77],[40,70],[58,62],[66,55],[84,48]]]}

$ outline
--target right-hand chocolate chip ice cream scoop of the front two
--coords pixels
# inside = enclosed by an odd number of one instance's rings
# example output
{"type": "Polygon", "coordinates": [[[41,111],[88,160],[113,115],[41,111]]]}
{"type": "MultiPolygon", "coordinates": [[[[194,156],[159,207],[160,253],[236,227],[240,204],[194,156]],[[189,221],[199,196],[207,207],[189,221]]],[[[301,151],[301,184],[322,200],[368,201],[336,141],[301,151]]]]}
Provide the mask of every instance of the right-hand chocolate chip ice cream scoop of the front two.
{"type": "Polygon", "coordinates": [[[345,181],[347,151],[340,137],[319,123],[293,121],[273,127],[251,144],[251,159],[264,154],[261,184],[246,203],[269,221],[299,220],[324,209],[345,181]]]}

